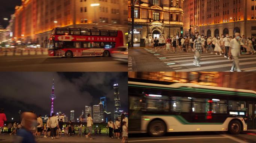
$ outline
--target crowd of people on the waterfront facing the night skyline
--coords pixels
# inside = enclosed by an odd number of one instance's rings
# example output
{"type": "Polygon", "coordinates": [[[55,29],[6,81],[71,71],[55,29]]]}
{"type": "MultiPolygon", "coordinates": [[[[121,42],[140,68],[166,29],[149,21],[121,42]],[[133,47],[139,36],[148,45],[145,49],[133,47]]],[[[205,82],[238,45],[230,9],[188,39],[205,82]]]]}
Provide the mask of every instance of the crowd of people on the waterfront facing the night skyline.
{"type": "MultiPolygon", "coordinates": [[[[91,114],[87,115],[87,123],[84,128],[84,134],[86,130],[88,134],[85,135],[86,138],[92,140],[92,126],[94,125],[91,114]]],[[[6,115],[4,114],[4,109],[0,109],[0,134],[4,127],[4,122],[6,121],[6,115]]],[[[78,137],[83,137],[82,132],[82,122],[79,122],[78,127],[78,137]]],[[[107,128],[109,129],[109,138],[122,138],[122,142],[127,142],[128,138],[128,118],[124,114],[121,117],[116,118],[115,122],[109,119],[107,123],[107,128]]],[[[58,117],[52,113],[52,116],[48,118],[47,122],[44,124],[42,116],[34,114],[34,111],[24,112],[21,114],[21,123],[14,122],[7,124],[7,133],[11,136],[14,135],[14,141],[22,143],[35,143],[36,138],[51,138],[58,139],[62,136],[71,137],[75,134],[74,125],[71,120],[67,123],[63,122],[63,119],[58,119],[58,117]],[[64,126],[65,124],[65,126],[64,126]],[[64,134],[62,134],[64,130],[64,134]],[[43,136],[42,136],[43,135],[43,136]]],[[[97,126],[94,130],[95,135],[101,134],[101,128],[97,126]]]]}

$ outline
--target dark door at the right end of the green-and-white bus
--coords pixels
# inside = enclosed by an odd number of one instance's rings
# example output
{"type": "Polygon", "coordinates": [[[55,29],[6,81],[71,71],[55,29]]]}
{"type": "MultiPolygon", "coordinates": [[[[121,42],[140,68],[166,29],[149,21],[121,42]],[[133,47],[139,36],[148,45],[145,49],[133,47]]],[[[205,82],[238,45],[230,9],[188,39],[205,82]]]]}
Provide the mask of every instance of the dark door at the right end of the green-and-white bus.
{"type": "Polygon", "coordinates": [[[256,102],[249,102],[247,128],[256,129],[256,102]]]}

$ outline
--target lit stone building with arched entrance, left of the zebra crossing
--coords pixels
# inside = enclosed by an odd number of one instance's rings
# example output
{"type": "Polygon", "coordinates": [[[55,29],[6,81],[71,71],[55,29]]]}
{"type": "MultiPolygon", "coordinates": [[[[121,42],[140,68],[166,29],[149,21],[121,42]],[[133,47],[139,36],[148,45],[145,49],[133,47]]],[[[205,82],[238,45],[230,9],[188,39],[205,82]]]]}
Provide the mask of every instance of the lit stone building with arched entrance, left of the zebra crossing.
{"type": "MultiPolygon", "coordinates": [[[[134,9],[134,46],[149,38],[180,35],[184,0],[138,0],[134,9]],[[144,2],[139,4],[139,1],[144,2]]],[[[131,37],[131,0],[128,0],[128,28],[131,37]]]]}

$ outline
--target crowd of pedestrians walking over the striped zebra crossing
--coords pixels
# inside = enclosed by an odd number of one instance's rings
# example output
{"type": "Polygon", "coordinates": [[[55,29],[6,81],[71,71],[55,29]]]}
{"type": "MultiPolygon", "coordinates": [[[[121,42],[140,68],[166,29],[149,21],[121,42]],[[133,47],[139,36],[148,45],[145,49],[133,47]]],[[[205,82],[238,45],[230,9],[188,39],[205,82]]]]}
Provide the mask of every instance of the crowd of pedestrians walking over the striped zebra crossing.
{"type": "Polygon", "coordinates": [[[144,44],[145,49],[153,48],[157,51],[166,51],[176,53],[177,50],[182,52],[195,52],[195,60],[193,65],[200,67],[201,55],[203,53],[211,53],[223,56],[227,60],[233,60],[230,71],[241,71],[239,66],[239,56],[242,52],[254,55],[256,53],[256,38],[245,38],[239,33],[235,33],[234,37],[229,34],[221,36],[204,36],[196,34],[195,36],[178,37],[174,35],[172,38],[160,35],[159,38],[146,37],[144,44]]]}

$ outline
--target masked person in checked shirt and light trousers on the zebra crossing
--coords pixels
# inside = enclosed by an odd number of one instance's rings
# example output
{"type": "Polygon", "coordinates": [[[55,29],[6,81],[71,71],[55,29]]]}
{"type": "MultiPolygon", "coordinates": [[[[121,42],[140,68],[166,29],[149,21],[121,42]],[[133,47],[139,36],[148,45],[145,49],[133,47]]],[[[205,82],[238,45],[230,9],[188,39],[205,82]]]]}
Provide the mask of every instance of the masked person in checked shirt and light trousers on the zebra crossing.
{"type": "Polygon", "coordinates": [[[201,59],[201,54],[202,54],[202,41],[201,41],[201,35],[198,35],[197,39],[194,41],[194,47],[195,47],[195,60],[193,64],[195,66],[200,67],[200,59],[201,59]]]}

